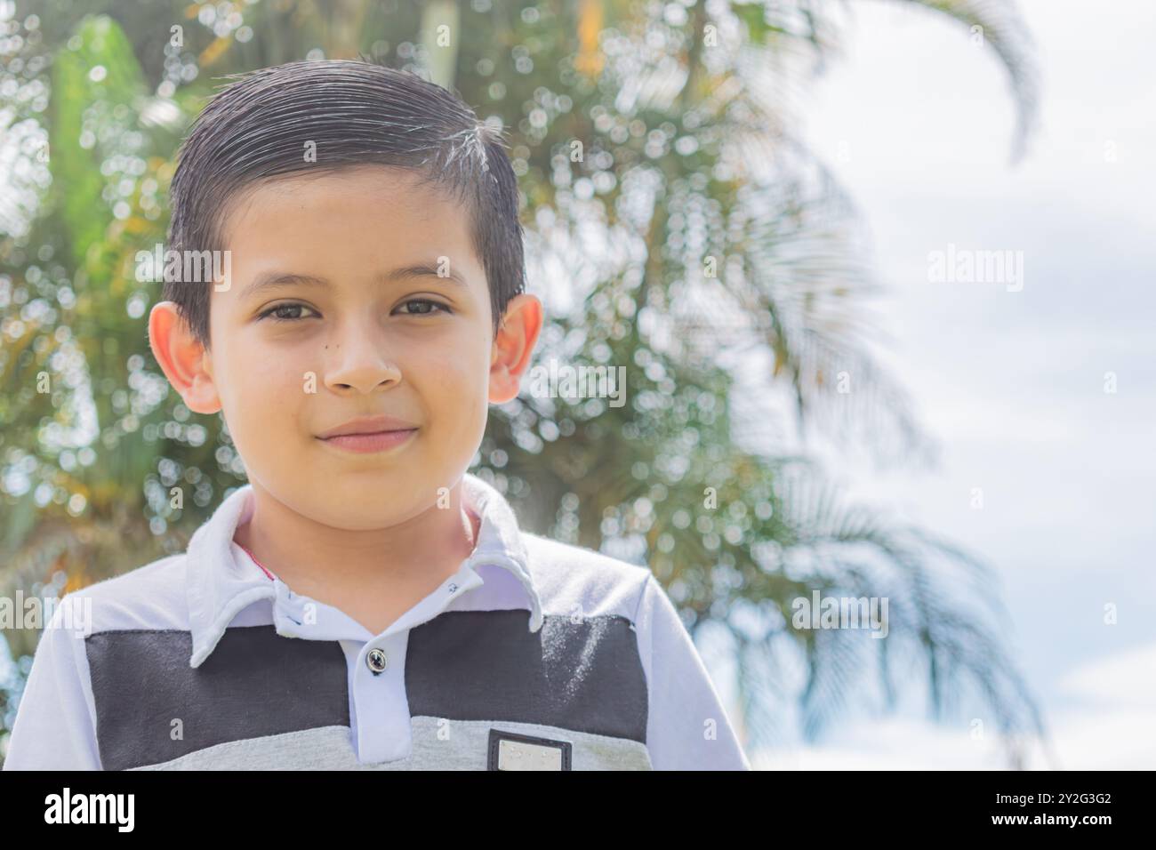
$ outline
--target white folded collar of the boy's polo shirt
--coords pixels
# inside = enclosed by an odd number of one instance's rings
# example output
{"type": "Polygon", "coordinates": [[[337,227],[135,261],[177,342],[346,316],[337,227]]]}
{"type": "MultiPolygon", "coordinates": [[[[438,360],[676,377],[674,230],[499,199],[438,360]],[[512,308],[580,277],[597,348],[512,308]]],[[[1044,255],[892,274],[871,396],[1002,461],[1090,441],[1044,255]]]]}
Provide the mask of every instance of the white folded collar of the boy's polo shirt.
{"type": "MultiPolygon", "coordinates": [[[[542,626],[542,603],[513,509],[497,489],[468,472],[462,476],[461,496],[481,519],[477,542],[465,563],[470,568],[501,567],[513,574],[529,597],[529,630],[538,631],[542,626]]],[[[252,485],[239,487],[188,541],[186,594],[193,638],[188,661],[192,667],[199,667],[208,658],[242,609],[276,596],[274,582],[265,574],[243,570],[232,557],[234,533],[252,516],[253,507],[252,485]]]]}

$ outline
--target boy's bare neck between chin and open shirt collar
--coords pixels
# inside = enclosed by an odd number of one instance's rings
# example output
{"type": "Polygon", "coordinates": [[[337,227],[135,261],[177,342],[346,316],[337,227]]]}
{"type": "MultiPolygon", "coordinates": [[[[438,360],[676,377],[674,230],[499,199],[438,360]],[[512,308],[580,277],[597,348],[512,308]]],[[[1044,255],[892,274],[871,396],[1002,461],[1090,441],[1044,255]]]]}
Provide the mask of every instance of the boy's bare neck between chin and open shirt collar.
{"type": "Polygon", "coordinates": [[[451,489],[449,510],[432,504],[401,523],[349,531],[318,523],[252,482],[253,512],[234,534],[267,570],[296,592],[318,587],[403,586],[440,582],[469,557],[481,520],[451,489]]]}

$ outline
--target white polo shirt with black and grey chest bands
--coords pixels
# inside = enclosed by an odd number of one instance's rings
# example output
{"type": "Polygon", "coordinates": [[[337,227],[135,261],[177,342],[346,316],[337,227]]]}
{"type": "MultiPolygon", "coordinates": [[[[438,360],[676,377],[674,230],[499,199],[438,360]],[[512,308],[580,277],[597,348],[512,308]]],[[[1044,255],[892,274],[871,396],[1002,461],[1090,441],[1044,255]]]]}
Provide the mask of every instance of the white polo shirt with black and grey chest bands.
{"type": "Polygon", "coordinates": [[[462,501],[474,552],[375,635],[234,541],[235,489],[186,552],[61,599],[3,767],[750,769],[650,569],[521,531],[474,474],[462,501]]]}

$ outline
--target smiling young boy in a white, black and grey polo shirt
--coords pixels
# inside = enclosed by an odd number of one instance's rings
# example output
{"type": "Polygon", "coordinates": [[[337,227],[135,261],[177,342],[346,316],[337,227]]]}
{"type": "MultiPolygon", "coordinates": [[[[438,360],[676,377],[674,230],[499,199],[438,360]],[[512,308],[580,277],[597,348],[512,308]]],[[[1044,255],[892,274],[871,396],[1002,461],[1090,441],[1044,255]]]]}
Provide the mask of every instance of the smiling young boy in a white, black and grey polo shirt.
{"type": "Polygon", "coordinates": [[[650,570],[466,472],[542,323],[490,128],[294,62],[213,99],[170,191],[178,254],[228,253],[166,273],[150,345],[249,483],[66,597],[91,624],[45,630],[6,768],[749,769],[650,570]]]}

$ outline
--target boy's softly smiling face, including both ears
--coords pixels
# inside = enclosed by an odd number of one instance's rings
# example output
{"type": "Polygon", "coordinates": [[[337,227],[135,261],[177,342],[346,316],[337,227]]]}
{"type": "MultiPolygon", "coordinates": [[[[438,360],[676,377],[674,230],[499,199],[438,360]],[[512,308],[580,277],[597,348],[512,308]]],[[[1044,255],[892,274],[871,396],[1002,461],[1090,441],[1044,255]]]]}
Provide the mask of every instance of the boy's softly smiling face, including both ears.
{"type": "Polygon", "coordinates": [[[274,179],[230,206],[224,232],[231,276],[210,297],[212,350],[170,302],[150,317],[188,407],[223,409],[250,481],[313,520],[369,530],[429,509],[467,471],[489,404],[517,396],[538,300],[511,301],[495,339],[466,208],[401,169],[274,179]],[[386,279],[417,265],[433,273],[386,279]],[[370,451],[319,437],[380,415],[416,429],[370,451]]]}

